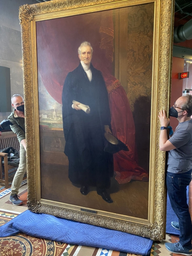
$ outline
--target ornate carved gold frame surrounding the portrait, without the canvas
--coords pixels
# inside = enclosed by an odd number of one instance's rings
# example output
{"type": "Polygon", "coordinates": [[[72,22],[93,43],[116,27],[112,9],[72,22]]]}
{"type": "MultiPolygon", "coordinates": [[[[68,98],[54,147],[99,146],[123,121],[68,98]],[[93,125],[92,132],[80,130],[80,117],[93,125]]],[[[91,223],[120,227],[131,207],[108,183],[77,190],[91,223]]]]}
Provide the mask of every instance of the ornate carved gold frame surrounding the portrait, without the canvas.
{"type": "Polygon", "coordinates": [[[172,60],[172,27],[173,0],[54,0],[39,4],[23,5],[19,9],[22,35],[23,81],[25,99],[25,126],[27,140],[27,173],[28,173],[28,209],[58,217],[76,220],[104,228],[115,229],[152,240],[165,238],[165,153],[159,150],[160,123],[158,111],[168,110],[170,100],[170,72],[172,60]],[[154,64],[152,83],[156,83],[156,90],[152,94],[151,115],[151,148],[153,153],[150,172],[149,218],[148,220],[131,219],[120,220],[111,216],[101,216],[73,209],[64,209],[60,203],[40,198],[39,187],[39,132],[38,132],[38,95],[36,73],[36,59],[33,58],[36,44],[34,44],[35,22],[37,20],[54,19],[69,15],[68,11],[76,13],[94,12],[118,8],[119,6],[155,3],[154,64]],[[107,7],[106,7],[107,6],[107,7]],[[33,38],[33,40],[32,40],[33,38]],[[157,40],[158,39],[158,40],[157,40]]]}

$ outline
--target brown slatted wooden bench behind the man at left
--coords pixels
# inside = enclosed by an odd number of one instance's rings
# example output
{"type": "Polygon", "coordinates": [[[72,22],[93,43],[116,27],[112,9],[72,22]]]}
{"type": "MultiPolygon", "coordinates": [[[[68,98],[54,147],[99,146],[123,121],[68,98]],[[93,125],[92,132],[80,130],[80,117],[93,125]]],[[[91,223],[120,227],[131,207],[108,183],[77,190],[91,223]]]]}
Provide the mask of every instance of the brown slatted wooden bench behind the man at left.
{"type": "MultiPolygon", "coordinates": [[[[2,132],[0,136],[0,149],[13,147],[17,151],[20,150],[20,143],[17,139],[17,135],[14,132],[2,132]]],[[[8,160],[7,153],[0,152],[0,182],[5,184],[5,188],[8,188],[8,160]],[[1,158],[4,158],[4,180],[3,180],[3,164],[1,158]]]]}

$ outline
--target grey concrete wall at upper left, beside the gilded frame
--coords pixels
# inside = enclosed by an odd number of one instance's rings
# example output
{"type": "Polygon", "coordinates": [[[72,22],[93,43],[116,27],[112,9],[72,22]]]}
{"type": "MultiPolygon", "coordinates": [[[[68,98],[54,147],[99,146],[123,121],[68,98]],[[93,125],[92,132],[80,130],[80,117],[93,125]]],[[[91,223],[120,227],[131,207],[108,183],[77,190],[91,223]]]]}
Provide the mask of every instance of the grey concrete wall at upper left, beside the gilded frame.
{"type": "MultiPolygon", "coordinates": [[[[11,95],[23,96],[23,70],[19,6],[35,0],[0,0],[0,66],[10,68],[11,95]]],[[[10,112],[0,113],[0,122],[10,112]]]]}

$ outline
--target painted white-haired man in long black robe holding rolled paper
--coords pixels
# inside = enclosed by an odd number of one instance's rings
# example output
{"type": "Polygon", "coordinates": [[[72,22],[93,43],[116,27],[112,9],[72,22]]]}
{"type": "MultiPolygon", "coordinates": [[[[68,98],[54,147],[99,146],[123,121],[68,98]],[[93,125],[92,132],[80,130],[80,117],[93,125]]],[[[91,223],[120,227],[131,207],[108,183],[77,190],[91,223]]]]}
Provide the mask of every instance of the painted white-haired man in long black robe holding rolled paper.
{"type": "Polygon", "coordinates": [[[103,76],[91,63],[92,51],[90,43],[80,45],[79,66],[68,73],[63,86],[64,153],[69,160],[69,179],[81,186],[80,192],[87,195],[89,186],[96,187],[97,193],[112,203],[106,189],[113,176],[113,155],[104,152],[104,133],[111,133],[111,114],[103,76]],[[88,105],[90,113],[73,100],[88,105]]]}

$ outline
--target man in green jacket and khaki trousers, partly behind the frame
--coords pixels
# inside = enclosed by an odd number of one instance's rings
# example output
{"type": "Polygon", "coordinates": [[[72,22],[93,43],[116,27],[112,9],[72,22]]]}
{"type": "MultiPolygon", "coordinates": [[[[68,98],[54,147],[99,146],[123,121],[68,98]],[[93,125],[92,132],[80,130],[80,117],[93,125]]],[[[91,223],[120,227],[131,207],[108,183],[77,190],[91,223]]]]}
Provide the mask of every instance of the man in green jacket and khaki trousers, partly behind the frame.
{"type": "Polygon", "coordinates": [[[14,94],[11,98],[11,102],[13,112],[10,116],[8,116],[8,120],[12,123],[10,127],[12,131],[17,134],[17,138],[20,142],[20,163],[12,181],[11,196],[9,201],[14,205],[21,205],[23,202],[19,199],[18,193],[24,173],[27,171],[24,100],[21,95],[14,94]]]}

